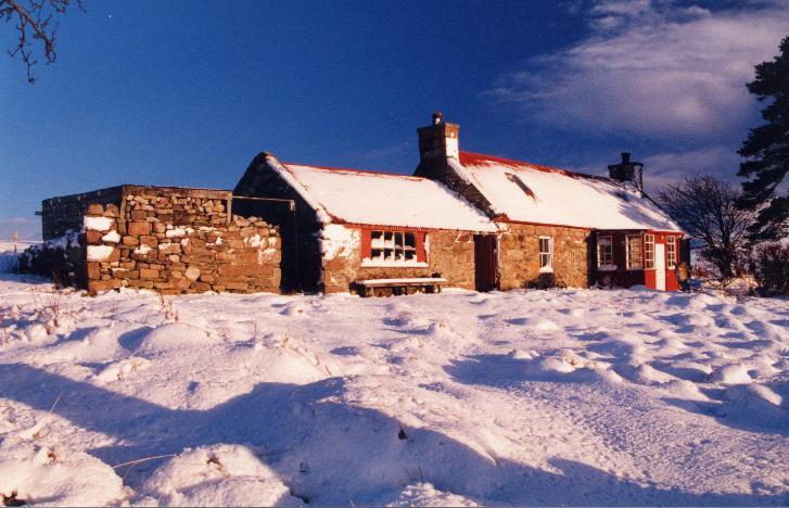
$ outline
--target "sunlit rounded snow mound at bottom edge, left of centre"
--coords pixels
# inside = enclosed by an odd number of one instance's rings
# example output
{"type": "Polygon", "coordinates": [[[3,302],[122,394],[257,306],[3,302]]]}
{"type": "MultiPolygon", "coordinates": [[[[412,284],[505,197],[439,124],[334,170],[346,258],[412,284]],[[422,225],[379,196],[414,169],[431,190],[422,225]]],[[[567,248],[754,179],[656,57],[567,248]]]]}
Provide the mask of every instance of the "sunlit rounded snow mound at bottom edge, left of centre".
{"type": "Polygon", "coordinates": [[[187,449],[161,466],[142,494],[170,506],[298,506],[300,499],[246,447],[187,449]]]}

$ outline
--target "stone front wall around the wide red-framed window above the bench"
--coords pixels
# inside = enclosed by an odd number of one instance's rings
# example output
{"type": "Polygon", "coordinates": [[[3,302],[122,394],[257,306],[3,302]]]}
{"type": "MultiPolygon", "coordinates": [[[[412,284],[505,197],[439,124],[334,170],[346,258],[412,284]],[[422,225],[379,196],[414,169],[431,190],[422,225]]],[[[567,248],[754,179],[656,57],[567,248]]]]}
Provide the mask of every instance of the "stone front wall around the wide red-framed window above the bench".
{"type": "MultiPolygon", "coordinates": [[[[330,227],[344,228],[340,225],[330,227]]],[[[474,289],[474,236],[471,232],[428,232],[428,266],[424,267],[366,267],[361,263],[360,230],[345,229],[348,237],[343,249],[323,249],[323,288],[327,293],[353,290],[357,280],[404,277],[443,277],[453,288],[474,289]]],[[[332,237],[336,237],[336,232],[332,237]]]]}

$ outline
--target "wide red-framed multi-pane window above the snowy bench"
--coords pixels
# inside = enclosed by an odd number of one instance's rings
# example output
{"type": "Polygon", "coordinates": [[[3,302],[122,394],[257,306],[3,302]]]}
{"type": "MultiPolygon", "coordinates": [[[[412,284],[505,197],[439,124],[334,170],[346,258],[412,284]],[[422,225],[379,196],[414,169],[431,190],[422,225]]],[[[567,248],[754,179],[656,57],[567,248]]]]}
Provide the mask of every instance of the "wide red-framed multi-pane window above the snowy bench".
{"type": "Polygon", "coordinates": [[[362,266],[415,266],[428,262],[427,233],[408,229],[361,230],[362,266]]]}

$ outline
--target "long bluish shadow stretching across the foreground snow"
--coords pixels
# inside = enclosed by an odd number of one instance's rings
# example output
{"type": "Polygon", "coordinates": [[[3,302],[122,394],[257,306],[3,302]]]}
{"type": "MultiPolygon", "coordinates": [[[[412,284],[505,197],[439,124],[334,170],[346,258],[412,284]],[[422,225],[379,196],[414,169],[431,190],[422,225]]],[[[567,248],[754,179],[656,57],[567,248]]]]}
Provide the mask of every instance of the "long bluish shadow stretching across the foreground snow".
{"type": "MultiPolygon", "coordinates": [[[[455,366],[456,378],[483,380],[483,360],[455,366]]],[[[488,366],[491,367],[491,366],[488,366]]],[[[497,359],[495,369],[504,366],[497,359]]],[[[405,428],[378,410],[343,402],[344,380],[258,383],[207,410],[169,409],[27,365],[0,365],[0,395],[54,412],[116,445],[89,450],[106,463],[178,454],[218,443],[264,449],[262,460],[300,496],[319,504],[374,501],[409,483],[430,482],[488,501],[524,505],[786,505],[789,496],[691,494],[646,487],[581,462],[555,459],[553,473],[481,455],[428,429],[405,428]],[[308,472],[302,462],[309,465],[308,472]]],[[[162,461],[137,465],[125,481],[140,485],[162,461]]],[[[120,471],[119,471],[120,472],[120,471]]]]}

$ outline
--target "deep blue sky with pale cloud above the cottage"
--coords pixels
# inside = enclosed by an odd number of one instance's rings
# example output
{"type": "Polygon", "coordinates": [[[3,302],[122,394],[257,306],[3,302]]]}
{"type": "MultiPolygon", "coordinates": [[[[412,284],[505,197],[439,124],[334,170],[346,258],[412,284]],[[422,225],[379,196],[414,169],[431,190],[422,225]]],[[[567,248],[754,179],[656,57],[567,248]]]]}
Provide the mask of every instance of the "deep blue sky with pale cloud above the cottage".
{"type": "Polygon", "coordinates": [[[35,85],[0,60],[0,218],[118,183],[232,188],[264,150],[410,173],[435,110],[461,150],[588,173],[629,150],[652,189],[733,178],[745,82],[789,35],[779,1],[85,5],[35,85]]]}

